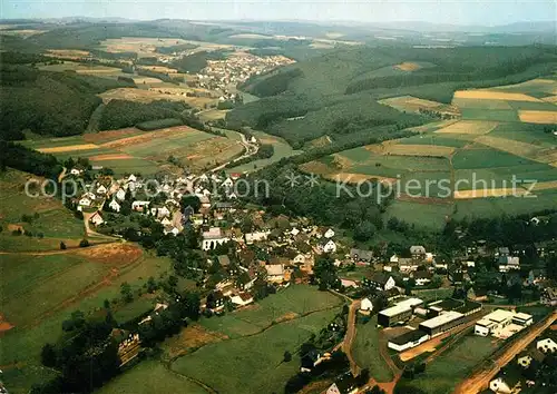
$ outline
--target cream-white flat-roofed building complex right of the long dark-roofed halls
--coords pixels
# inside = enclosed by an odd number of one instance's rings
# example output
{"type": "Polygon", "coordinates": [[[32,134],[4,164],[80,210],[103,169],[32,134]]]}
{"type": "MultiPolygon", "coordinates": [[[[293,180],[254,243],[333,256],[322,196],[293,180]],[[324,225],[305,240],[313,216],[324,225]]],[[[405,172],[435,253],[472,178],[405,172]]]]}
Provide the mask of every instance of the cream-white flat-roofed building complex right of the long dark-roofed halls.
{"type": "Polygon", "coordinates": [[[476,335],[507,338],[532,324],[532,317],[525,313],[497,309],[476,322],[473,332],[476,335]]]}

